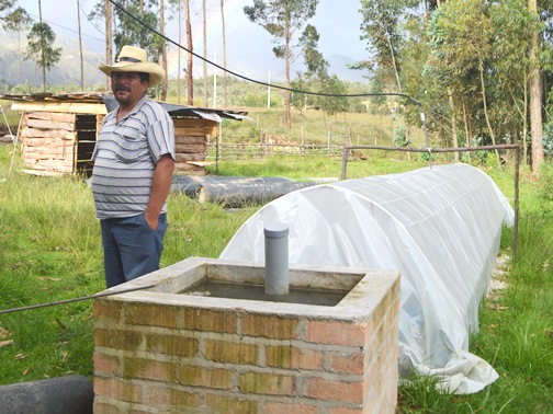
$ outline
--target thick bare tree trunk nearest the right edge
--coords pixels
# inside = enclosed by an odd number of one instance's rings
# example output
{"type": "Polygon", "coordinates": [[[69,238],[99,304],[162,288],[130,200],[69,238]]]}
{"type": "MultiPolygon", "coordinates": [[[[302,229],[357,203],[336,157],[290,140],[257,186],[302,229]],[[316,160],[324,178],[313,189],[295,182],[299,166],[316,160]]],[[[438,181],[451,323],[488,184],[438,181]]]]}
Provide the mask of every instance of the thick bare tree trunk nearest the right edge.
{"type": "MultiPolygon", "coordinates": [[[[538,0],[529,0],[530,11],[538,18],[538,0]]],[[[530,39],[530,135],[532,137],[532,172],[538,174],[544,161],[542,125],[542,77],[538,61],[540,32],[534,27],[530,39]]]]}

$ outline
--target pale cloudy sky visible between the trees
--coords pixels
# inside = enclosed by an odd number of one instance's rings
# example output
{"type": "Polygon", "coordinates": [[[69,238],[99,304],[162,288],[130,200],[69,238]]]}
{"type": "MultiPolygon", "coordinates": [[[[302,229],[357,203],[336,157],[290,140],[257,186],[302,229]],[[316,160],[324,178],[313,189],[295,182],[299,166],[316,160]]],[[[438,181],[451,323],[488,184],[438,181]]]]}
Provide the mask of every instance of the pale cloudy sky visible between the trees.
{"type": "MultiPolygon", "coordinates": [[[[100,0],[80,0],[80,19],[84,47],[102,53],[104,48],[103,22],[90,22],[87,14],[100,0]]],[[[19,0],[33,18],[38,19],[38,0],[19,0]]],[[[251,23],[244,14],[244,7],[251,5],[252,0],[225,0],[225,33],[227,46],[227,69],[246,77],[262,77],[260,81],[271,78],[283,78],[284,64],[274,58],[272,37],[258,24],[251,23]]],[[[202,1],[190,0],[193,51],[203,55],[203,15],[202,1]]],[[[309,21],[319,32],[319,51],[332,61],[340,56],[352,61],[366,59],[366,44],[360,41],[361,15],[360,2],[357,0],[319,0],[317,13],[309,21]],[[339,4],[338,4],[339,3],[339,4]]],[[[43,20],[58,35],[78,36],[77,0],[42,0],[43,20]]],[[[169,13],[166,12],[166,19],[169,13]]],[[[167,22],[166,36],[185,46],[184,28],[182,37],[178,38],[178,14],[167,22]]],[[[207,59],[223,65],[223,36],[221,1],[206,0],[207,15],[207,59]]],[[[170,45],[169,70],[176,72],[178,65],[178,47],[170,45]],[[172,57],[172,58],[171,58],[172,57]],[[171,68],[172,66],[172,68],[171,68]]],[[[181,70],[185,66],[184,54],[181,55],[181,70]]],[[[201,61],[194,62],[194,70],[200,70],[201,61]]],[[[292,71],[301,70],[292,68],[292,71]]],[[[332,68],[331,68],[332,69],[332,68]]],[[[213,72],[215,68],[210,68],[213,72]]],[[[359,73],[359,71],[354,71],[359,73]]],[[[361,73],[359,73],[360,76],[361,73]]]]}

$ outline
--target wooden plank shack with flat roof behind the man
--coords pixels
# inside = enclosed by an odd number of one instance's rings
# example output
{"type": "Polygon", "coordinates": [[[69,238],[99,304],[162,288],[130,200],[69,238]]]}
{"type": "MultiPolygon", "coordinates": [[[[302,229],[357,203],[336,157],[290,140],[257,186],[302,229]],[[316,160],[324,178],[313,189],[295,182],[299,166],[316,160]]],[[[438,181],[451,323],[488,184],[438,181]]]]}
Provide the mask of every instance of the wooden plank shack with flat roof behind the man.
{"type": "MultiPolygon", "coordinates": [[[[92,151],[103,117],[116,102],[102,93],[0,95],[21,112],[19,138],[23,163],[32,174],[92,173],[92,151]]],[[[162,103],[173,119],[176,173],[201,175],[210,136],[222,118],[240,120],[246,113],[162,103]]]]}

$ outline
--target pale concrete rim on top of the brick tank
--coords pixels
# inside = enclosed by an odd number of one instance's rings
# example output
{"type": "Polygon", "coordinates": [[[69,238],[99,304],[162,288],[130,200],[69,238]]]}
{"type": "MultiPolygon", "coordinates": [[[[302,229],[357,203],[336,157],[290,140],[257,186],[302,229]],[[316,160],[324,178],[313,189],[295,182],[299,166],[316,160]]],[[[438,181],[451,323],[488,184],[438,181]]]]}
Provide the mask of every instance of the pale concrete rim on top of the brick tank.
{"type": "Polygon", "coordinates": [[[264,276],[266,269],[259,264],[189,257],[104,292],[113,295],[116,291],[137,289],[109,297],[110,300],[125,302],[161,302],[166,306],[192,306],[217,310],[241,308],[245,312],[276,315],[302,314],[309,319],[363,322],[372,318],[376,306],[399,280],[399,272],[391,269],[321,265],[290,266],[291,287],[345,291],[343,299],[332,307],[182,294],[202,278],[242,285],[263,285],[264,276]]]}

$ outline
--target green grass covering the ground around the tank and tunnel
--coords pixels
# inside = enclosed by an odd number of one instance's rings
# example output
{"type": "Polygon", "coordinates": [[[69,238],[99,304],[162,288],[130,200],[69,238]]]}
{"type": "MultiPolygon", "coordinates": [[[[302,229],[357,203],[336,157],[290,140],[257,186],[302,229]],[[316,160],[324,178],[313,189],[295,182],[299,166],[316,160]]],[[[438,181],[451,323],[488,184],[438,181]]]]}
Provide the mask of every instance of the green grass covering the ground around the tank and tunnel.
{"type": "MultiPolygon", "coordinates": [[[[12,146],[0,146],[0,310],[94,295],[104,288],[100,228],[90,189],[75,177],[9,174],[12,146]]],[[[348,177],[422,166],[396,153],[348,164],[348,177]],[[393,160],[392,160],[393,159],[393,160]]],[[[341,159],[271,158],[229,162],[221,174],[339,177],[341,159]]],[[[486,169],[512,200],[512,172],[486,169]]],[[[431,378],[399,387],[399,413],[553,412],[553,200],[550,188],[521,175],[518,256],[509,263],[507,288],[483,301],[481,330],[471,352],[488,360],[500,378],[482,392],[449,395],[431,378]]],[[[258,207],[227,212],[183,195],[169,198],[170,228],[162,266],[189,256],[217,257],[258,207]]],[[[509,251],[512,230],[503,234],[509,251]]],[[[67,373],[93,375],[92,303],[0,314],[0,383],[67,373]]]]}

